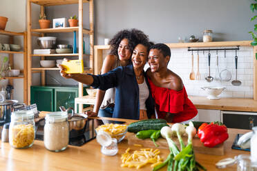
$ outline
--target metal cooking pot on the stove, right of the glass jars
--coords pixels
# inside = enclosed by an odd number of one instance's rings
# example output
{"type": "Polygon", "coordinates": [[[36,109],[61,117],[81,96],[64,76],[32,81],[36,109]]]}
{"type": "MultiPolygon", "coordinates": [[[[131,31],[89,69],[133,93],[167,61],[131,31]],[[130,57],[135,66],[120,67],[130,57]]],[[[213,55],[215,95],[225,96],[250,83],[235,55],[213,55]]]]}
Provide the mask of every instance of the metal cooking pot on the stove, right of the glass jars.
{"type": "Polygon", "coordinates": [[[86,123],[88,121],[88,115],[81,113],[74,113],[73,108],[65,110],[64,106],[59,107],[61,111],[67,112],[71,110],[71,114],[68,114],[68,125],[70,131],[70,138],[82,136],[86,129],[86,123]]]}

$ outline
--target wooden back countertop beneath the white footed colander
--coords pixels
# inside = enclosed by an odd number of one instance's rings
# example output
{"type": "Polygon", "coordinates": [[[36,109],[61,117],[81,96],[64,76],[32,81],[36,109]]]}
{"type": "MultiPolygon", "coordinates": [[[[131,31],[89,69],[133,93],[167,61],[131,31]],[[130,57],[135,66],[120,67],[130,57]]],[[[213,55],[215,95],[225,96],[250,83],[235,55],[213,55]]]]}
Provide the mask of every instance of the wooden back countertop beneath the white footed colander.
{"type": "Polygon", "coordinates": [[[220,98],[219,100],[209,100],[206,97],[196,96],[189,96],[189,99],[198,109],[257,112],[257,101],[254,99],[220,98]]]}

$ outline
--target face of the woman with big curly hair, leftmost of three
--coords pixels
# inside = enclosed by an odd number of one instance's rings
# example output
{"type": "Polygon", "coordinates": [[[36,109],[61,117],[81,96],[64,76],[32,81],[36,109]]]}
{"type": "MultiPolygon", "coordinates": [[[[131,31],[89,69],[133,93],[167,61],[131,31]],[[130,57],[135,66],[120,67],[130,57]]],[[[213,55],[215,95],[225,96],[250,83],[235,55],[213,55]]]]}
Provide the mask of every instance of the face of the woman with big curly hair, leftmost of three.
{"type": "Polygon", "coordinates": [[[122,39],[122,41],[120,41],[117,51],[120,61],[127,61],[131,59],[131,50],[129,50],[128,47],[128,39],[122,39]]]}

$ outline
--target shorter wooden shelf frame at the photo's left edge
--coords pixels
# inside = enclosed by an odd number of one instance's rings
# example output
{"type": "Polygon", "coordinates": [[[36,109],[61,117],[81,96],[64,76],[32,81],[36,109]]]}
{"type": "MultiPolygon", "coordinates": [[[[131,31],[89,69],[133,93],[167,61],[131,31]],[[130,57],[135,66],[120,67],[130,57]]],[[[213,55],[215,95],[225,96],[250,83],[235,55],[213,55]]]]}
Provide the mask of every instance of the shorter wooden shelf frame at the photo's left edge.
{"type": "MultiPolygon", "coordinates": [[[[8,54],[10,68],[14,68],[14,55],[15,54],[23,54],[23,70],[21,70],[21,74],[17,77],[1,77],[0,79],[8,79],[9,84],[13,86],[13,79],[23,79],[23,103],[28,104],[28,63],[27,63],[27,32],[10,32],[6,30],[0,30],[1,35],[8,36],[9,43],[14,43],[14,37],[20,36],[23,37],[23,51],[8,51],[8,50],[0,50],[0,54],[8,54]]],[[[0,42],[1,43],[1,42],[0,42]]]]}

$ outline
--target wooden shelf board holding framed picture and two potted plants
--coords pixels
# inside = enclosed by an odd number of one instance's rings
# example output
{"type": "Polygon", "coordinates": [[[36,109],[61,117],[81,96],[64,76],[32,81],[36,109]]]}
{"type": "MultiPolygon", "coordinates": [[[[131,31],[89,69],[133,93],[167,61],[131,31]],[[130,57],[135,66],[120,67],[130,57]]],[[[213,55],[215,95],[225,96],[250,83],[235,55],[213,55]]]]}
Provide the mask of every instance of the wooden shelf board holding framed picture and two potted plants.
{"type": "MultiPolygon", "coordinates": [[[[38,32],[38,33],[51,33],[51,32],[78,32],[79,27],[68,27],[68,28],[46,28],[46,29],[32,29],[32,32],[38,32]]],[[[90,30],[83,29],[84,34],[92,34],[90,30]]]]}

